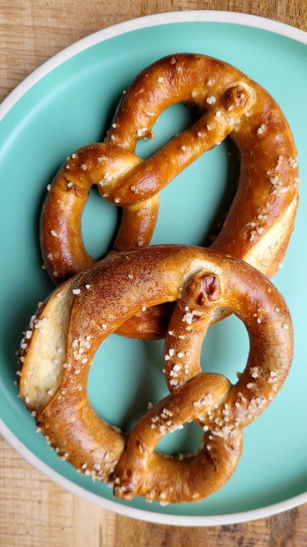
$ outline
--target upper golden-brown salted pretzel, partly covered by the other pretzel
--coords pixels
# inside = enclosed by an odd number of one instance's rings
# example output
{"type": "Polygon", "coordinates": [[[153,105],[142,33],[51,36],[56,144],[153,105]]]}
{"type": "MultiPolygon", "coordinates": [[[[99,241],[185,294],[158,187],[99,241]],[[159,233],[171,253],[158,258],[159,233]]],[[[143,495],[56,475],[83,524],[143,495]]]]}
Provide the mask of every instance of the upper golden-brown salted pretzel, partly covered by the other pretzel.
{"type": "MultiPolygon", "coordinates": [[[[156,224],[158,192],[203,152],[230,135],[240,157],[237,194],[214,249],[273,276],[284,258],[298,204],[298,162],[291,130],[269,93],[227,63],[181,53],[146,68],[123,95],[104,144],[84,147],[60,169],[43,207],[41,246],[55,282],[93,264],[82,243],[80,219],[89,189],[123,208],[113,249],[146,246],[156,224]],[[134,154],[152,137],[154,122],[174,103],[200,110],[200,119],[149,160],[134,154]]],[[[223,314],[215,316],[215,321],[223,314]]],[[[165,334],[167,308],[141,313],[120,333],[165,334]]]]}

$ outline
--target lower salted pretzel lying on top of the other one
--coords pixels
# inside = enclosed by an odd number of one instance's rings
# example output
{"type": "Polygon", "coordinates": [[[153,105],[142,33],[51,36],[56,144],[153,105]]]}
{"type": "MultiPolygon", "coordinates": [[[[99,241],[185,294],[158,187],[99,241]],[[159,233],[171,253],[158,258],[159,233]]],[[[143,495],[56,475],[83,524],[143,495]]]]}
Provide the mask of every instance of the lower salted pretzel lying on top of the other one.
{"type": "Polygon", "coordinates": [[[242,428],[269,405],[291,365],[293,331],[284,299],[262,273],[217,251],[151,246],[109,256],[55,289],[21,341],[20,393],[58,456],[114,484],[114,495],[163,503],[197,501],[235,471],[242,428]],[[128,434],[100,419],[87,397],[99,344],[129,317],[176,302],[164,348],[171,392],[128,434]],[[212,316],[229,308],[247,328],[250,352],[236,385],[202,373],[200,349],[212,316]],[[196,420],[203,446],[169,457],[164,434],[196,420]]]}

